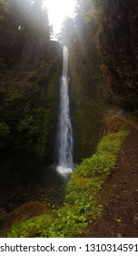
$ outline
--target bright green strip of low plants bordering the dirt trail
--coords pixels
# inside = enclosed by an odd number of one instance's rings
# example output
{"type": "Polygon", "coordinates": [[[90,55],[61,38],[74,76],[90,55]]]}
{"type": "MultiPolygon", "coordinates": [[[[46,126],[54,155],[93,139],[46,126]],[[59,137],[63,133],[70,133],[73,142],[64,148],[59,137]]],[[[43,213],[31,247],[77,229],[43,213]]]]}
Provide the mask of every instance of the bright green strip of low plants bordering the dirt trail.
{"type": "Polygon", "coordinates": [[[89,220],[101,216],[98,204],[101,189],[116,164],[117,155],[127,131],[104,135],[91,158],[76,166],[64,198],[64,207],[53,210],[51,216],[41,216],[19,223],[9,230],[8,237],[76,237],[89,220]],[[46,221],[45,221],[46,219],[46,221]]]}

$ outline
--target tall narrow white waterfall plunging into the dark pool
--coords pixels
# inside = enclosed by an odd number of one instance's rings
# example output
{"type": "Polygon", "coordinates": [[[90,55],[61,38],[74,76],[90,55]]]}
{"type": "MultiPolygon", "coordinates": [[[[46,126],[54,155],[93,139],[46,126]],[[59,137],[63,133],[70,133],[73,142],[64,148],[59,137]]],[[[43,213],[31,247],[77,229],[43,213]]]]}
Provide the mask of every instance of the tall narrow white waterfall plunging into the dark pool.
{"type": "Polygon", "coordinates": [[[69,79],[67,76],[68,49],[66,47],[64,47],[63,58],[63,76],[60,84],[60,112],[58,128],[59,157],[57,170],[62,176],[66,176],[67,174],[72,173],[73,169],[73,132],[69,109],[69,79]]]}

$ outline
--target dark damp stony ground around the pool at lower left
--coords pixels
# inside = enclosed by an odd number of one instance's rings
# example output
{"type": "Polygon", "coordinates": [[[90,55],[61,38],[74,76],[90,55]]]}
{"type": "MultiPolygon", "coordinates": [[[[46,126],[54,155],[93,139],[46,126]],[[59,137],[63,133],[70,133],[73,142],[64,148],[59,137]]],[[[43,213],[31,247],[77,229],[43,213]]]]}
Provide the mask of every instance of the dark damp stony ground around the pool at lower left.
{"type": "MultiPolygon", "coordinates": [[[[59,175],[54,166],[46,166],[34,174],[13,176],[0,187],[0,232],[8,229],[15,219],[24,214],[44,213],[44,208],[61,208],[67,179],[59,175]]],[[[49,209],[48,209],[49,210],[49,209]]]]}

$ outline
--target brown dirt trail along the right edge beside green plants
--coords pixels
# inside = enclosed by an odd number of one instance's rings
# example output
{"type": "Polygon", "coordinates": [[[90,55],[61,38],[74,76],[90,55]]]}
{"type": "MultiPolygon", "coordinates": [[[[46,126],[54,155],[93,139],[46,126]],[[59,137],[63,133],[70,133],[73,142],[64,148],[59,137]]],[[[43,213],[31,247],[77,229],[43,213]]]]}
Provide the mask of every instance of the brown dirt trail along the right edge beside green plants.
{"type": "Polygon", "coordinates": [[[89,237],[138,237],[138,126],[128,123],[131,132],[104,187],[104,215],[89,225],[89,237]]]}

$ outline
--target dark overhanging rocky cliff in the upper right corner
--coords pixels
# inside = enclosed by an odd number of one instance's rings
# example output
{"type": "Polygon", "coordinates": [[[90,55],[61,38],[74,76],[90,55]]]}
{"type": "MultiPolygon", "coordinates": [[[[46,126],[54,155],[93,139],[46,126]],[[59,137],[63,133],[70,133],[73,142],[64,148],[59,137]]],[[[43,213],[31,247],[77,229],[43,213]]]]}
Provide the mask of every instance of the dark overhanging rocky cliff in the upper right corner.
{"type": "Polygon", "coordinates": [[[138,106],[138,3],[107,1],[99,29],[99,51],[107,67],[112,101],[138,106]]]}

